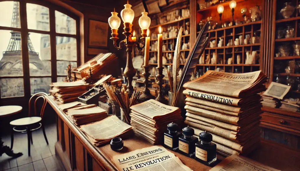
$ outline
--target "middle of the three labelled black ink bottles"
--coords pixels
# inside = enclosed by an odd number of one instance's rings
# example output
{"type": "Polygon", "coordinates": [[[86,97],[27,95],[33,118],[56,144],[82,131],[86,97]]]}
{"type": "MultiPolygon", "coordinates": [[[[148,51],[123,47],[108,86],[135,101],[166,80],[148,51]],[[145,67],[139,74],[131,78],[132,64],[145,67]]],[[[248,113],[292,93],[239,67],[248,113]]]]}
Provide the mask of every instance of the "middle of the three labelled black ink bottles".
{"type": "Polygon", "coordinates": [[[179,137],[179,152],[188,157],[195,155],[195,143],[198,142],[198,138],[193,137],[194,130],[190,127],[182,129],[182,137],[179,137]]]}

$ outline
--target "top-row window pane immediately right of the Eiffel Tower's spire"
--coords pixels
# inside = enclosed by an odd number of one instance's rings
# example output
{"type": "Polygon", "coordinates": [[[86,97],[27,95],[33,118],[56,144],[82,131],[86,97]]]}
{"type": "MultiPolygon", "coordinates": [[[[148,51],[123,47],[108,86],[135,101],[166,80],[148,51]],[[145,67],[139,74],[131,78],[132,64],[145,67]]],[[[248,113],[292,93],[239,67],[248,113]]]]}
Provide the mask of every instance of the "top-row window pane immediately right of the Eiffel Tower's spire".
{"type": "Polygon", "coordinates": [[[50,31],[49,8],[27,3],[26,12],[28,29],[50,31]]]}

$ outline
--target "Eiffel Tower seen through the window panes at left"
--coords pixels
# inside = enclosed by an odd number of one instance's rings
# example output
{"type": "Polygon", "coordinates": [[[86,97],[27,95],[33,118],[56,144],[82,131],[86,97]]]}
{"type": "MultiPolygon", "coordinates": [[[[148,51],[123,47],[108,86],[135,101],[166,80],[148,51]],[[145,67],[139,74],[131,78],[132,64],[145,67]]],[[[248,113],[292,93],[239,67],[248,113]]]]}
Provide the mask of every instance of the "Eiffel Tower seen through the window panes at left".
{"type": "MultiPolygon", "coordinates": [[[[13,2],[13,17],[11,19],[11,27],[20,28],[19,2],[13,2]]],[[[11,31],[11,37],[7,49],[3,52],[0,60],[0,71],[9,71],[10,73],[22,71],[22,51],[21,51],[21,33],[11,31]]],[[[38,69],[43,69],[43,63],[39,58],[39,54],[35,52],[32,46],[29,34],[27,37],[27,46],[29,52],[29,63],[35,65],[38,69]]]]}

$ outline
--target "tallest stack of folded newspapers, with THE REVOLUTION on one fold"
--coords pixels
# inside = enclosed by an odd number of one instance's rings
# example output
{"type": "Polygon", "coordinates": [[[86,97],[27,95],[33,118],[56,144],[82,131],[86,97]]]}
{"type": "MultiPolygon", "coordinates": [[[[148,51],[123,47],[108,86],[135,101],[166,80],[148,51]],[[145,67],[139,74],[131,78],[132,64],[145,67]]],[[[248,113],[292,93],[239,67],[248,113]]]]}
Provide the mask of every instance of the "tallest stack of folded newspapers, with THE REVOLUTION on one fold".
{"type": "Polygon", "coordinates": [[[229,156],[247,154],[259,143],[259,119],[266,76],[261,71],[234,74],[207,71],[184,84],[187,125],[195,136],[207,131],[213,135],[217,152],[229,156]]]}

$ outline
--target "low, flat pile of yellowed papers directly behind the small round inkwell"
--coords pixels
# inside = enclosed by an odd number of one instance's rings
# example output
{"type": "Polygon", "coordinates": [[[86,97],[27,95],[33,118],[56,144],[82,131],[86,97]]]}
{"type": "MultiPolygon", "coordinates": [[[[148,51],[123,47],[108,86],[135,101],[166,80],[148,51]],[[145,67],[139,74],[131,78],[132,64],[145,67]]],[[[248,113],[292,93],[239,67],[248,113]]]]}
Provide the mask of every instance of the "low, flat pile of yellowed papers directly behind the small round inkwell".
{"type": "Polygon", "coordinates": [[[109,143],[114,137],[128,138],[132,135],[132,126],[122,122],[115,115],[98,122],[81,125],[80,129],[96,146],[109,143]]]}

